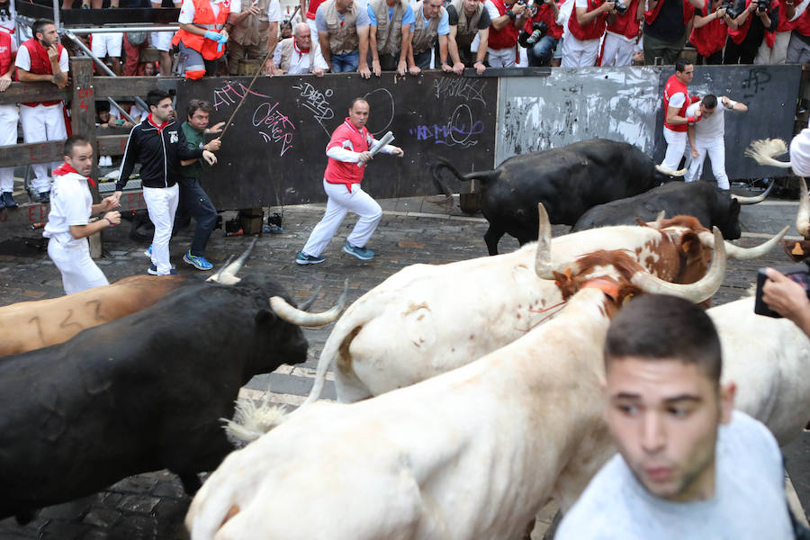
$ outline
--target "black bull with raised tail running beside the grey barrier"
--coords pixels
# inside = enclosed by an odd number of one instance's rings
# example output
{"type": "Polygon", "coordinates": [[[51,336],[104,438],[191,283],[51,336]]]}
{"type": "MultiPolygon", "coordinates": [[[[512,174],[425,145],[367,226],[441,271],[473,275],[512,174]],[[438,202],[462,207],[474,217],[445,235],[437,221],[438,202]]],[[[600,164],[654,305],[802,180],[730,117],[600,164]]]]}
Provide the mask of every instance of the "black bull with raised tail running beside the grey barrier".
{"type": "Polygon", "coordinates": [[[655,169],[653,160],[625,142],[590,139],[562,148],[509,157],[498,168],[462,175],[446,159],[438,158],[433,178],[439,190],[439,171],[449,169],[459,180],[479,180],[482,212],[490,222],[484,235],[490,255],[508,233],[520,245],[537,239],[537,203],[543,202],[552,223],[573,225],[592,206],[624,199],[671,180],[655,169]]]}

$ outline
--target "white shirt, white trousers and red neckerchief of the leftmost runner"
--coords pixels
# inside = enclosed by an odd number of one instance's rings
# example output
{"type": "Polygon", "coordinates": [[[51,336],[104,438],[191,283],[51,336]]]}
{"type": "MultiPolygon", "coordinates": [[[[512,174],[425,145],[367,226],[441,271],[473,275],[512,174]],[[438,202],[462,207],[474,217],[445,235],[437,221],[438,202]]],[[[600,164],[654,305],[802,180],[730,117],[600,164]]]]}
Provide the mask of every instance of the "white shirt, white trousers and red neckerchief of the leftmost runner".
{"type": "Polygon", "coordinates": [[[73,238],[72,225],[86,225],[93,211],[88,178],[63,163],[53,171],[48,223],[42,236],[49,238],[48,255],[62,274],[66,294],[108,285],[107,278],[90,258],[87,238],[73,238]]]}

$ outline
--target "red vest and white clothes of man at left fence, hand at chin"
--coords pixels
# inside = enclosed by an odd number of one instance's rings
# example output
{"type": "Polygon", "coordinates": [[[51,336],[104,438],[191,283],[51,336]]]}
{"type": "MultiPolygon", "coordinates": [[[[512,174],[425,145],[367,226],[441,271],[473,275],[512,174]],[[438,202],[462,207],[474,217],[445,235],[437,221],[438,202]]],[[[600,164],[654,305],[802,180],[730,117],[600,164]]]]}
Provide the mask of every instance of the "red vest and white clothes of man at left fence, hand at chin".
{"type": "MultiPolygon", "coordinates": [[[[67,74],[67,50],[61,45],[59,45],[59,50],[59,69],[62,73],[67,74]]],[[[14,66],[37,75],[52,74],[48,51],[35,39],[23,42],[17,51],[14,66]]],[[[23,140],[26,143],[67,139],[65,113],[60,101],[21,104],[20,123],[23,124],[23,140]]],[[[52,163],[51,167],[56,168],[59,165],[61,162],[57,161],[52,163]]],[[[38,193],[48,192],[50,190],[48,165],[41,163],[31,165],[31,169],[34,172],[34,179],[31,181],[32,187],[38,193]]]]}

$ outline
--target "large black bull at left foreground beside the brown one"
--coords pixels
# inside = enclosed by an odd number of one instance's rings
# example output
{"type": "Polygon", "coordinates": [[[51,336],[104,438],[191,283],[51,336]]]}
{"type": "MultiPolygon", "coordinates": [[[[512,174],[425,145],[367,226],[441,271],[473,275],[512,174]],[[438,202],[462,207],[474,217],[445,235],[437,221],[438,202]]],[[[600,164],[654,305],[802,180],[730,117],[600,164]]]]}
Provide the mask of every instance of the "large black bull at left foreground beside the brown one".
{"type": "Polygon", "coordinates": [[[0,360],[0,519],[167,468],[186,491],[233,450],[220,419],[254,374],[307,357],[260,276],[190,284],[69,341],[0,360]]]}

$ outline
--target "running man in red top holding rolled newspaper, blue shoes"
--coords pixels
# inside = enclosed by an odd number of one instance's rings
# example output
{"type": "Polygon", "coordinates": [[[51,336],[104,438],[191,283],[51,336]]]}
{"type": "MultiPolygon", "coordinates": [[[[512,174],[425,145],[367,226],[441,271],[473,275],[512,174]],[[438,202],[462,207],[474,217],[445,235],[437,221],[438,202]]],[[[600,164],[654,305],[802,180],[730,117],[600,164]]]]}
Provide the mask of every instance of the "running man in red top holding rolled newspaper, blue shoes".
{"type": "MultiPolygon", "coordinates": [[[[368,121],[368,102],[356,98],[349,107],[348,118],[332,133],[327,145],[329,164],[323,175],[323,189],[329,196],[326,213],[312,229],[306,245],[295,257],[299,265],[317,265],[325,259],[320,253],[335,235],[348,211],[360,216],[355,229],[346,239],[343,250],[360,260],[374,257],[374,251],[365,248],[365,243],[383,217],[383,209],[360,187],[365,166],[374,157],[369,150],[377,143],[365,123],[368,121]]],[[[402,148],[385,145],[380,151],[402,157],[402,148]]]]}

